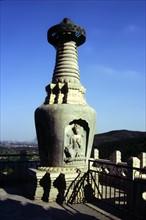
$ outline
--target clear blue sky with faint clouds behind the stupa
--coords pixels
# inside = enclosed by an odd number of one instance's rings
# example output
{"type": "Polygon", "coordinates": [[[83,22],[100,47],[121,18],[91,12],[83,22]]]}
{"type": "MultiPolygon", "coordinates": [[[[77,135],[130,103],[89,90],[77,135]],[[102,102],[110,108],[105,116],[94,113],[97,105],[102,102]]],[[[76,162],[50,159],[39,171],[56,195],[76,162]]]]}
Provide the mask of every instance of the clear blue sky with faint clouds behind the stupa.
{"type": "Polygon", "coordinates": [[[96,133],[145,131],[145,1],[1,1],[1,140],[35,139],[34,111],[51,82],[47,30],[69,17],[85,28],[79,69],[96,133]]]}

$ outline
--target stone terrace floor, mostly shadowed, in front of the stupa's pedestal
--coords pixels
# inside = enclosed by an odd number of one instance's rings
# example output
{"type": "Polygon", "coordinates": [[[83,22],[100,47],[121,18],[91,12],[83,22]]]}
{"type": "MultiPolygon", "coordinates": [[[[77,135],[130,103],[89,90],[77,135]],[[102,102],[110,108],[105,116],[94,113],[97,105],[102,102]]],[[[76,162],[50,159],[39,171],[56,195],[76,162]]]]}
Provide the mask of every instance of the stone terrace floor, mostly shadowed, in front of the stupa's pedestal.
{"type": "Polygon", "coordinates": [[[0,188],[0,220],[120,220],[127,214],[103,204],[59,205],[27,199],[22,188],[0,188]]]}

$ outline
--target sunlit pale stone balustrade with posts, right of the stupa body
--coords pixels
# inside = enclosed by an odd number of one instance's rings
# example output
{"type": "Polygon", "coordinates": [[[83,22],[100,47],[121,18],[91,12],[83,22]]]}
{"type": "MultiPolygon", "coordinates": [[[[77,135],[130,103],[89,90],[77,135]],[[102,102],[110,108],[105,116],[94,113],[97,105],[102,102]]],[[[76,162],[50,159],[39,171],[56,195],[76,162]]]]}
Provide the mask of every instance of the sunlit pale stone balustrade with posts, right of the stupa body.
{"type": "Polygon", "coordinates": [[[95,149],[94,159],[91,163],[92,166],[96,167],[96,169],[98,168],[100,172],[106,172],[132,180],[135,178],[146,179],[146,172],[143,173],[140,171],[140,169],[146,168],[146,152],[141,152],[138,157],[130,157],[126,162],[123,162],[119,150],[114,151],[109,160],[107,160],[99,158],[99,150],[95,149]]]}

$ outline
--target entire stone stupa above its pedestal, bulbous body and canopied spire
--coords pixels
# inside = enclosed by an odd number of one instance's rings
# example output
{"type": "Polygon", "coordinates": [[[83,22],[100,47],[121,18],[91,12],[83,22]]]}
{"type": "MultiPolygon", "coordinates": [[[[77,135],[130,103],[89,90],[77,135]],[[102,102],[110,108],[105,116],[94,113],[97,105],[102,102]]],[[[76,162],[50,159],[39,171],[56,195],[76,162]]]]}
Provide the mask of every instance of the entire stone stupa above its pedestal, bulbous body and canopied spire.
{"type": "Polygon", "coordinates": [[[80,167],[90,158],[96,112],[84,97],[77,53],[85,40],[85,30],[68,18],[48,30],[56,63],[45,101],[35,111],[42,166],[80,167]]]}

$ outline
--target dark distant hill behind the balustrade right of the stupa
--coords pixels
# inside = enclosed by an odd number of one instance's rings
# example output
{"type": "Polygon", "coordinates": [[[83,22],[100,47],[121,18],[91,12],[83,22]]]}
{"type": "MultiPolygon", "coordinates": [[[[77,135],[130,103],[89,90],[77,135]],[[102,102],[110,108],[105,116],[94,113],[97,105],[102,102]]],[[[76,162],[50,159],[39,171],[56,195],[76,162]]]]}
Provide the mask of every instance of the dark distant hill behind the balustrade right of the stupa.
{"type": "MultiPolygon", "coordinates": [[[[122,161],[146,152],[146,132],[115,130],[94,136],[93,149],[99,149],[101,159],[109,159],[114,150],[120,150],[122,161]]],[[[92,151],[93,156],[93,151],[92,151]]]]}

